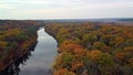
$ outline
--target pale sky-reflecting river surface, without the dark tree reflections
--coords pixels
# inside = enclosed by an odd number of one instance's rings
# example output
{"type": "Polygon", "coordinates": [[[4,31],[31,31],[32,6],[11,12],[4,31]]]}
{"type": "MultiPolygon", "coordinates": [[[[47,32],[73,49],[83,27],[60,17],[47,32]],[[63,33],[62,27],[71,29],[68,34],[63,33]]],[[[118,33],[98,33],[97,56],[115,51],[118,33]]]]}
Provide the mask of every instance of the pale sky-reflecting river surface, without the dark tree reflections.
{"type": "Polygon", "coordinates": [[[38,30],[38,44],[29,60],[20,64],[19,75],[52,75],[52,64],[57,55],[57,42],[44,29],[38,30]]]}

